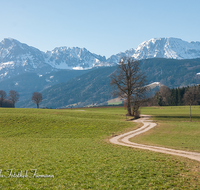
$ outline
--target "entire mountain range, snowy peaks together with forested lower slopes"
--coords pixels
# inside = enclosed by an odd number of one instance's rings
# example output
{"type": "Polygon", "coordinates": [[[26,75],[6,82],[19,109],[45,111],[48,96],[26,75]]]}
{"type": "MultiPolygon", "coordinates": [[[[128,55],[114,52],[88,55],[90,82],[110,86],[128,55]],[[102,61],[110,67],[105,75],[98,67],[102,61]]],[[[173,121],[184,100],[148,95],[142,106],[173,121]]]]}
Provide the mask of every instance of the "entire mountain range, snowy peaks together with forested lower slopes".
{"type": "MultiPolygon", "coordinates": [[[[196,74],[200,73],[200,42],[153,38],[136,49],[106,59],[85,48],[57,47],[42,52],[15,39],[5,38],[0,42],[0,90],[18,91],[20,101],[30,98],[35,91],[43,92],[46,94],[44,107],[77,105],[78,99],[84,106],[105,102],[110,98],[109,75],[123,56],[132,56],[140,61],[148,82],[162,82],[169,87],[198,83],[199,75],[196,74]],[[59,94],[65,93],[70,101],[64,100],[62,95],[59,95],[63,99],[59,100],[60,103],[54,101],[58,86],[59,94]],[[79,92],[81,96],[78,96],[79,92]]],[[[19,102],[19,107],[24,105],[19,102]]]]}

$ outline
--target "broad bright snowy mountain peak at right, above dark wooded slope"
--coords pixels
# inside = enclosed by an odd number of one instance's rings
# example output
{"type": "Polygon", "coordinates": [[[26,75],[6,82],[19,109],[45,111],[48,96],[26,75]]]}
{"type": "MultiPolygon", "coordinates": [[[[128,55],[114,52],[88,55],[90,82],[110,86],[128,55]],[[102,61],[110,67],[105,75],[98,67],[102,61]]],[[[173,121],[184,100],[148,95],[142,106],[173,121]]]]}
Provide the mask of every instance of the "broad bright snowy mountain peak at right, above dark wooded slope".
{"type": "Polygon", "coordinates": [[[132,57],[194,59],[200,57],[200,42],[186,42],[179,38],[152,38],[142,42],[132,57]]]}

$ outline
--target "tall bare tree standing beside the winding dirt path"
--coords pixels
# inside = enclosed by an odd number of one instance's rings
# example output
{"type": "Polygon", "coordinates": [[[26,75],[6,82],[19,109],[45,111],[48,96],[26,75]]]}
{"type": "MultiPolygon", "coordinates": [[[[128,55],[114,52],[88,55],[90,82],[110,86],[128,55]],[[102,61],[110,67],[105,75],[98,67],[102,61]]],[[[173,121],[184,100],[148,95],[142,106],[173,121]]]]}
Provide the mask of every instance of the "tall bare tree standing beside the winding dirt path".
{"type": "Polygon", "coordinates": [[[141,72],[138,61],[133,57],[123,57],[110,78],[110,84],[114,88],[113,95],[125,98],[128,115],[134,115],[147,90],[146,76],[141,72]]]}

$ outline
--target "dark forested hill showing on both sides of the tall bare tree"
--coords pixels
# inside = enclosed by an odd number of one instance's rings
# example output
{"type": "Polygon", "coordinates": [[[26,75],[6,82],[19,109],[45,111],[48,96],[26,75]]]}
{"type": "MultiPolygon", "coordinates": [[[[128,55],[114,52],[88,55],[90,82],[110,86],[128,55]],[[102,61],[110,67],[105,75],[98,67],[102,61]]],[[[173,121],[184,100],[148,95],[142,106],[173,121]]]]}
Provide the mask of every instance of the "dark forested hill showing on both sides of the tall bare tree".
{"type": "MultiPolygon", "coordinates": [[[[170,88],[200,84],[200,59],[146,59],[140,61],[148,83],[160,82],[170,88]]],[[[57,84],[42,91],[41,107],[65,108],[99,105],[111,99],[110,74],[117,66],[92,69],[66,83],[57,84]]],[[[17,104],[35,107],[31,101],[17,104]]]]}

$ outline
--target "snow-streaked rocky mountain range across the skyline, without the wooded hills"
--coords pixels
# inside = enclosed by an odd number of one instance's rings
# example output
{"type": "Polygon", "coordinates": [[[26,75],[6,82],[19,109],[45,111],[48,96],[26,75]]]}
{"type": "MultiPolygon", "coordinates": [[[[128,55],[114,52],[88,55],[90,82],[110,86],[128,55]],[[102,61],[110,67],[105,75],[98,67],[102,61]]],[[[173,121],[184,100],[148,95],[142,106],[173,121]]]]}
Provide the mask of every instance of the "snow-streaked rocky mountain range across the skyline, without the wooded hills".
{"type": "Polygon", "coordinates": [[[0,81],[22,73],[43,75],[59,69],[82,70],[116,65],[123,56],[137,60],[148,58],[195,59],[200,58],[200,42],[186,42],[177,38],[153,38],[136,49],[105,56],[91,53],[85,48],[57,47],[42,52],[12,38],[0,42],[0,81]]]}

